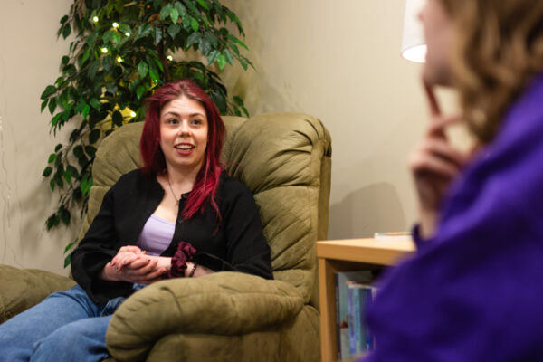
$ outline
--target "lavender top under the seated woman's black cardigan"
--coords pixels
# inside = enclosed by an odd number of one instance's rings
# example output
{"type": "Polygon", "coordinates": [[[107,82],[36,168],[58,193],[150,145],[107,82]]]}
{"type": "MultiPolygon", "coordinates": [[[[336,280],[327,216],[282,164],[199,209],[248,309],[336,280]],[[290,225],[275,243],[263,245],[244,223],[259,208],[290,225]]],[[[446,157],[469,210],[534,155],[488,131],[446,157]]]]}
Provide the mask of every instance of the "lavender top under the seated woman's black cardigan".
{"type": "Polygon", "coordinates": [[[138,247],[148,255],[160,255],[174,237],[176,223],[151,214],[138,237],[138,247]]]}

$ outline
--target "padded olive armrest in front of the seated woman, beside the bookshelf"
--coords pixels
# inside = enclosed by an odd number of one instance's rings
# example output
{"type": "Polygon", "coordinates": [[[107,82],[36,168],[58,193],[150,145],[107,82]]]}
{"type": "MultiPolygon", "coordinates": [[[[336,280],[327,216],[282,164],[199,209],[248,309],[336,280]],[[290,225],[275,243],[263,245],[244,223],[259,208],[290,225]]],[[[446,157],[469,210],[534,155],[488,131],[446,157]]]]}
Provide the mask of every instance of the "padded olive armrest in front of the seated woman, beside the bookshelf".
{"type": "Polygon", "coordinates": [[[106,336],[119,360],[143,360],[168,334],[240,335],[294,319],[303,297],[290,284],[239,272],[159,281],[130,296],[106,336]]]}

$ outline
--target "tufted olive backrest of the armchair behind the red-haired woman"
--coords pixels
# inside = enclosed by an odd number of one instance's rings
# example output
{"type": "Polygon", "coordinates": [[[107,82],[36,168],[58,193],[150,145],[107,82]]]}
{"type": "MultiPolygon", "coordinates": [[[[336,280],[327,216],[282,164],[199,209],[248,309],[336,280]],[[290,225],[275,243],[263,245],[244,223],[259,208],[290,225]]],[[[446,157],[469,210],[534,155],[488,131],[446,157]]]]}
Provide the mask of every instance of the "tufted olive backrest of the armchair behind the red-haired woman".
{"type": "MultiPolygon", "coordinates": [[[[319,119],[300,113],[223,119],[224,166],[252,190],[271,247],[275,279],[291,283],[306,302],[317,305],[315,243],[326,239],[329,219],[328,130],[319,119]]],[[[100,144],[80,239],[110,186],[138,167],[142,128],[143,123],[125,125],[100,144]]]]}

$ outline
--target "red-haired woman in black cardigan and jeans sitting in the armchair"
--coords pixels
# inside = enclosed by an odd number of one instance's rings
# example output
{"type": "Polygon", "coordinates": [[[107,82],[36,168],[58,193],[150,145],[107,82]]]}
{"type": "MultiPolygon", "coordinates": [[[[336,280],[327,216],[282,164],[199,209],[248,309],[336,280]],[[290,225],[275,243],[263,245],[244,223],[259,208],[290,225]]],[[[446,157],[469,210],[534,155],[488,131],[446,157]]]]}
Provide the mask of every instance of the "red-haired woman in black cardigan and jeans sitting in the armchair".
{"type": "Polygon", "coordinates": [[[71,254],[77,285],[0,325],[9,361],[100,361],[110,318],[132,292],[167,278],[241,271],[272,279],[251,191],[220,164],[224,123],[194,81],[147,100],[143,166],[119,178],[71,254]]]}

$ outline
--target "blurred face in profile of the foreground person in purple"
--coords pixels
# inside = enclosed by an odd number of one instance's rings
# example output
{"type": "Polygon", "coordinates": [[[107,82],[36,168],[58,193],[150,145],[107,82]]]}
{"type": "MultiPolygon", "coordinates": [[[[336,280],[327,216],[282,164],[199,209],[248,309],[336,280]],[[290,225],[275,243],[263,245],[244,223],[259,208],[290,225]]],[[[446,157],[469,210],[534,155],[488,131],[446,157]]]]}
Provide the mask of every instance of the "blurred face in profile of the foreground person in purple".
{"type": "Polygon", "coordinates": [[[419,14],[428,50],[423,79],[431,85],[451,85],[452,22],[440,0],[427,0],[419,14]]]}

